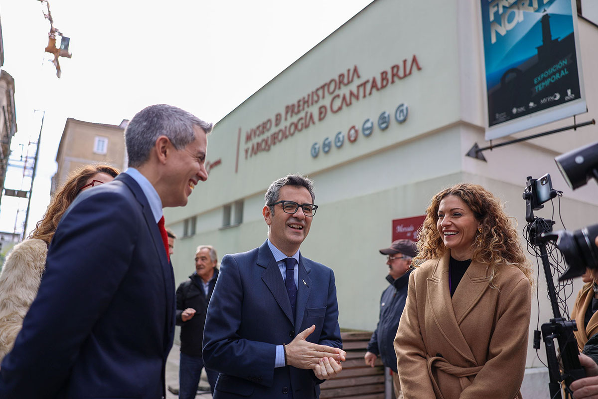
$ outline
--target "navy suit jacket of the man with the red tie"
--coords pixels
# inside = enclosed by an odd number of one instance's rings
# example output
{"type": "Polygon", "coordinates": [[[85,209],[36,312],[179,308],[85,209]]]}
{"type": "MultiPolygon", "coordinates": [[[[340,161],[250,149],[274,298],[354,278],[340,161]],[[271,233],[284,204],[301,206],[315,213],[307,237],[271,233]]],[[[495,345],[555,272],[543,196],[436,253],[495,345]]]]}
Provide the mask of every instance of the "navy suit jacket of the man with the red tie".
{"type": "Polygon", "coordinates": [[[122,173],[63,216],[13,351],[0,398],[164,395],[175,282],[141,187],[122,173]]]}

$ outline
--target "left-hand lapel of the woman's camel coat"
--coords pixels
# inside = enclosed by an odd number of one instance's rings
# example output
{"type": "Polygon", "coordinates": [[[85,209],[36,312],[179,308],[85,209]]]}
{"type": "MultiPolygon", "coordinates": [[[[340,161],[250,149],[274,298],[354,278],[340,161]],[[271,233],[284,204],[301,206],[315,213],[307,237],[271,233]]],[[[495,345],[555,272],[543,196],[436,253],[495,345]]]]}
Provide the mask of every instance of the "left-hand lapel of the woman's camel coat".
{"type": "MultiPolygon", "coordinates": [[[[450,253],[447,251],[443,257],[438,259],[434,267],[432,276],[428,278],[428,303],[432,310],[432,317],[434,322],[445,337],[450,337],[447,342],[455,351],[459,352],[467,360],[477,364],[474,354],[463,333],[459,328],[453,306],[451,306],[450,288],[449,288],[449,257],[450,253]]],[[[460,283],[461,284],[461,283],[460,283]]],[[[459,284],[459,286],[460,286],[459,284]]]]}

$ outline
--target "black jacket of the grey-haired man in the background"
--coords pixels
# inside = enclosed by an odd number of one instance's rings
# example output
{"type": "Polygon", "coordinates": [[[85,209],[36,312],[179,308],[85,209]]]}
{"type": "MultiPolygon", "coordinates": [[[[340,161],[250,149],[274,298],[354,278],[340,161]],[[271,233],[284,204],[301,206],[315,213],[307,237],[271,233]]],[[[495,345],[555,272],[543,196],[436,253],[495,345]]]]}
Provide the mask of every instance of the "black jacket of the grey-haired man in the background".
{"type": "Polygon", "coordinates": [[[189,279],[179,285],[176,289],[176,325],[181,326],[181,352],[189,356],[202,355],[203,327],[206,324],[206,312],[208,303],[216,285],[218,269],[214,269],[214,275],[210,280],[208,297],[203,290],[203,281],[197,273],[189,276],[189,279]],[[187,307],[196,310],[195,315],[182,321],[181,314],[187,307]]]}

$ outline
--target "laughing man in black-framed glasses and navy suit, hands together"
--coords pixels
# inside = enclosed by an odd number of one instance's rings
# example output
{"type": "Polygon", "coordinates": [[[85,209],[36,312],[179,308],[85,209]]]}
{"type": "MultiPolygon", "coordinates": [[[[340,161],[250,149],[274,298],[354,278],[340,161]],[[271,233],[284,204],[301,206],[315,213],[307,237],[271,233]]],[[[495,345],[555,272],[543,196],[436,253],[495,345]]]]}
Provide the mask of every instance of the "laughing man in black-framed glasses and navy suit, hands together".
{"type": "Polygon", "coordinates": [[[268,239],[225,255],[208,308],[203,360],[214,399],[318,398],[342,369],[334,273],[299,247],[316,214],[313,182],[287,175],[266,191],[268,239]]]}

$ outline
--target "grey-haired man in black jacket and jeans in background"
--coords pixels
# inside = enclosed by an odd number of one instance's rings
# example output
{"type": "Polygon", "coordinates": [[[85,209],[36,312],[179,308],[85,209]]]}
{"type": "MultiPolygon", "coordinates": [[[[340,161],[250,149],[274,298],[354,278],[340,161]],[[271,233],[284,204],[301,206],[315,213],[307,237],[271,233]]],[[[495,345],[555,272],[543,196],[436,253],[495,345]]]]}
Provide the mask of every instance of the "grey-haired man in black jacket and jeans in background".
{"type": "MultiPolygon", "coordinates": [[[[208,303],[218,278],[216,250],[200,245],[195,255],[195,272],[176,290],[176,324],[181,326],[181,363],[179,364],[179,398],[193,399],[202,375],[203,327],[208,303]]],[[[218,372],[206,367],[213,393],[218,372]]]]}

